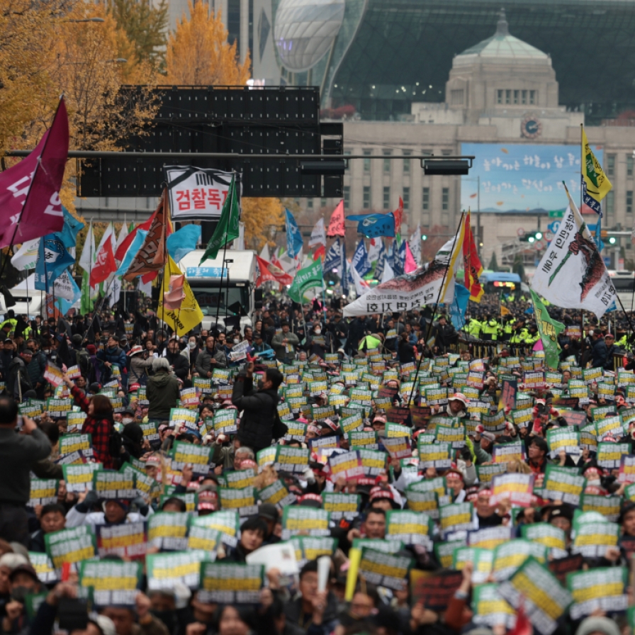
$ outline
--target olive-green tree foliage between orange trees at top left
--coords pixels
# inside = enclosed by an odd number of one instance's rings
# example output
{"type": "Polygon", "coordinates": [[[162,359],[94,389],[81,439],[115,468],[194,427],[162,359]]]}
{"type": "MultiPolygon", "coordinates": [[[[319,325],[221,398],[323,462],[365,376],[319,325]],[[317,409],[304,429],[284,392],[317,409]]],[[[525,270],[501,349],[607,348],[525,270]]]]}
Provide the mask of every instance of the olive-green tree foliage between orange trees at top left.
{"type": "Polygon", "coordinates": [[[107,0],[107,7],[133,43],[137,61],[162,69],[167,44],[167,0],[161,0],[156,7],[147,1],[107,0]]]}

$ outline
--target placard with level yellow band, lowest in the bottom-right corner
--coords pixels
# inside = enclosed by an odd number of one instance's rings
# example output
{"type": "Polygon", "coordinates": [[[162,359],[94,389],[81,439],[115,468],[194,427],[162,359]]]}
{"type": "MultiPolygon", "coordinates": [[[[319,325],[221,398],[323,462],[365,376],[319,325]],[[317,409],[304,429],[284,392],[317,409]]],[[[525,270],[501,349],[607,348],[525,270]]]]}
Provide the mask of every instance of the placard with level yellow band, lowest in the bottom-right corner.
{"type": "Polygon", "coordinates": [[[573,597],[571,619],[582,619],[596,611],[625,611],[629,607],[627,581],[626,567],[592,568],[567,575],[567,588],[573,597]]]}

